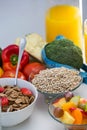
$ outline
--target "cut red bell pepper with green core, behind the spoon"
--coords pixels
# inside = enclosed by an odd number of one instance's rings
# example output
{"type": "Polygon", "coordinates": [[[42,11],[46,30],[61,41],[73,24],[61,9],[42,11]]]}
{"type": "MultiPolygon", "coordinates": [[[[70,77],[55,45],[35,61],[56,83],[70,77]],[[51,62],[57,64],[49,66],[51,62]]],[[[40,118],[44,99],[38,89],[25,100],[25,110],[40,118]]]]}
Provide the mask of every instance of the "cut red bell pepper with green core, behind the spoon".
{"type": "MultiPolygon", "coordinates": [[[[19,55],[19,46],[12,44],[8,45],[6,48],[2,50],[2,62],[3,69],[6,70],[14,70],[16,69],[19,55]]],[[[20,70],[24,68],[24,66],[29,62],[29,53],[24,51],[23,56],[20,62],[20,70]]]]}

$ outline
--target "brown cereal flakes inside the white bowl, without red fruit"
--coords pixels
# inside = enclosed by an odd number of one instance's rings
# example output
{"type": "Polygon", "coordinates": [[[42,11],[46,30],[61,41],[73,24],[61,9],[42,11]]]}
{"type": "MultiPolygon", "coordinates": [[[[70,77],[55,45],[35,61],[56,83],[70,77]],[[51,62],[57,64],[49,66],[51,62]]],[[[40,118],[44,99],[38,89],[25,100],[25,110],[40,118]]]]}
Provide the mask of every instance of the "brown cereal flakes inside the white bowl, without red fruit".
{"type": "Polygon", "coordinates": [[[2,112],[13,112],[21,110],[34,101],[34,95],[24,95],[18,86],[4,86],[4,91],[0,93],[0,97],[8,99],[8,105],[2,106],[2,112]]]}

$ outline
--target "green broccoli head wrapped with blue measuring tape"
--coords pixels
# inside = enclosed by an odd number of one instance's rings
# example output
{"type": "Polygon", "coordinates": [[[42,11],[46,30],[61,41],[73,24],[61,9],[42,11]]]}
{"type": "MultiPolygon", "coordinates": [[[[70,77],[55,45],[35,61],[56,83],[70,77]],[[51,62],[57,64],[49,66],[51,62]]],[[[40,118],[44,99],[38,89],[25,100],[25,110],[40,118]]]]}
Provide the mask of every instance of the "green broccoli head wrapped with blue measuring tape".
{"type": "Polygon", "coordinates": [[[61,64],[80,69],[83,64],[82,51],[68,39],[55,40],[45,46],[47,58],[61,64]]]}

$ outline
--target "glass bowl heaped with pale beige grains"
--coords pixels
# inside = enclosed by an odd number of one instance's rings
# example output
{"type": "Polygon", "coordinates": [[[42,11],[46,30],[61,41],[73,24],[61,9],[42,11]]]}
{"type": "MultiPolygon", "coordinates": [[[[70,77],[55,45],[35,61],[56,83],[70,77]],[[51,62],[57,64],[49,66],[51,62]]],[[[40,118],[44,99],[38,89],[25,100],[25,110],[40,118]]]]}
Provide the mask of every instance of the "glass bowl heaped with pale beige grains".
{"type": "Polygon", "coordinates": [[[75,90],[81,85],[82,81],[79,71],[60,67],[40,71],[32,79],[32,84],[39,92],[44,94],[46,102],[49,103],[53,97],[75,90]]]}

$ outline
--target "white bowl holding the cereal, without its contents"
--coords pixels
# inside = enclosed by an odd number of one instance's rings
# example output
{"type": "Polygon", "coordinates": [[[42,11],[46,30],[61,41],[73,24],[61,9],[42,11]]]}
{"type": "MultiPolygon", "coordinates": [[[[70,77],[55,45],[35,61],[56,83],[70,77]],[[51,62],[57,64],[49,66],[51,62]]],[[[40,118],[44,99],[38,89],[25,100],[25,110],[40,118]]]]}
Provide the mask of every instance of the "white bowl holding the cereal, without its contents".
{"type": "MultiPolygon", "coordinates": [[[[13,86],[14,83],[15,83],[14,78],[0,78],[1,86],[5,86],[5,85],[13,86]]],[[[4,127],[14,126],[14,125],[17,125],[17,124],[23,122],[28,117],[30,117],[30,115],[32,114],[33,109],[35,107],[35,103],[36,103],[36,100],[38,97],[38,92],[37,92],[37,89],[34,87],[34,85],[32,83],[22,80],[22,79],[17,79],[17,85],[20,88],[22,88],[22,87],[29,88],[33,92],[35,99],[29,106],[27,106],[21,110],[14,111],[14,112],[1,112],[0,113],[0,122],[1,122],[1,125],[4,127]]]]}

